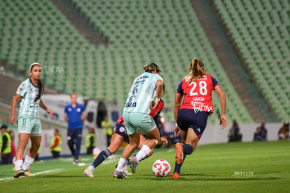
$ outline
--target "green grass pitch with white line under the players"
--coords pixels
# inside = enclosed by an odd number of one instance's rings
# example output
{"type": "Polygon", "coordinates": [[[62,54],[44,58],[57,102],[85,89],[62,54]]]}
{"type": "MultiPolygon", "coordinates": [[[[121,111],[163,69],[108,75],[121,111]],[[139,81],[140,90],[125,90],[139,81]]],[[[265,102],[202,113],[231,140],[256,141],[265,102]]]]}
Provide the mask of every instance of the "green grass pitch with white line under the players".
{"type": "MultiPolygon", "coordinates": [[[[85,178],[87,166],[74,166],[72,159],[36,161],[34,176],[11,178],[13,165],[0,166],[1,192],[289,192],[290,141],[233,142],[200,145],[187,156],[179,180],[157,178],[151,168],[156,159],[166,159],[174,170],[174,148],[156,149],[142,161],[129,179],[114,179],[120,157],[108,159],[85,178]]],[[[80,162],[89,165],[92,156],[80,162]]],[[[130,169],[129,169],[130,171],[130,169]]]]}

